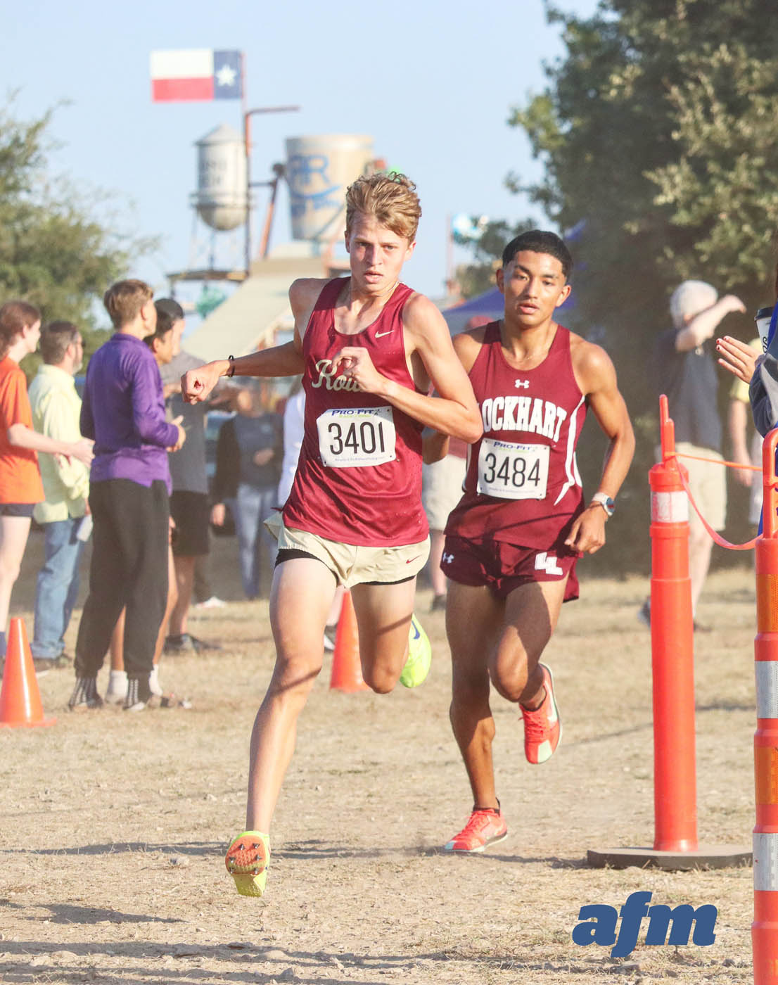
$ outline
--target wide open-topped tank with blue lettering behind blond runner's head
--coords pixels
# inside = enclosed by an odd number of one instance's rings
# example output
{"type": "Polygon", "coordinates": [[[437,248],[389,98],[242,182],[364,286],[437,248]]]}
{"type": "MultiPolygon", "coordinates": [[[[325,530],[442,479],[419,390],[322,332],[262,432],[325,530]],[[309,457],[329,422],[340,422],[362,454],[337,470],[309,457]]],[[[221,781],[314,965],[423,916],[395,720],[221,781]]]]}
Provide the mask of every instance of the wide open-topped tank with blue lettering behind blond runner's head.
{"type": "Polygon", "coordinates": [[[330,240],[345,228],[346,188],[374,158],[372,137],[328,134],[287,139],[292,238],[330,240]]]}

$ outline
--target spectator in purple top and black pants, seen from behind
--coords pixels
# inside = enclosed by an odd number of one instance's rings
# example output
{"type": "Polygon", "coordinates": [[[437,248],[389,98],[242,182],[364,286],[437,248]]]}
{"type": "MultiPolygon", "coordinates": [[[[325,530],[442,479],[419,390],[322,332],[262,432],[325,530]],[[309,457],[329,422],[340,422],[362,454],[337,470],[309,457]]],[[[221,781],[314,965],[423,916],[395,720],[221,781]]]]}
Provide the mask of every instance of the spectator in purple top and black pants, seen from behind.
{"type": "Polygon", "coordinates": [[[102,706],[97,672],[125,607],[124,707],[139,711],[152,697],[149,675],[167,598],[167,450],[180,448],[185,437],[179,423],[164,420],[160,370],[143,341],[157,325],[152,296],[143,281],[108,289],[103,303],[116,331],[87,369],[81,432],[95,439],[95,528],[71,710],[102,706]]]}

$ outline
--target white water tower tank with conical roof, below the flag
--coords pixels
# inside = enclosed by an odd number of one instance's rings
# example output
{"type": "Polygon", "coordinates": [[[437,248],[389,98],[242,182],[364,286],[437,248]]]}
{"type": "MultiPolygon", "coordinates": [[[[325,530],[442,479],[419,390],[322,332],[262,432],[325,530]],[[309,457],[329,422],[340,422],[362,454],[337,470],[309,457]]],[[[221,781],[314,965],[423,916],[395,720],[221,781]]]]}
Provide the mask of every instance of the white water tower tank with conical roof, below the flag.
{"type": "Polygon", "coordinates": [[[211,229],[234,230],[246,221],[246,155],[243,138],[223,123],[195,144],[198,215],[211,229]]]}

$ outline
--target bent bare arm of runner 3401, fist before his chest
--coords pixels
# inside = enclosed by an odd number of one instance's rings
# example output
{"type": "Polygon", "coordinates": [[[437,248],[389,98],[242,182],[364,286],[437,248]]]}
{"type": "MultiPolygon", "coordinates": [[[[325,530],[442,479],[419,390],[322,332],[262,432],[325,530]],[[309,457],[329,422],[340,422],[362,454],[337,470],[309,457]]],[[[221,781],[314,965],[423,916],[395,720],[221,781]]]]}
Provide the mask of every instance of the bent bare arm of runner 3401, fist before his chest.
{"type": "Polygon", "coordinates": [[[454,353],[443,316],[428,298],[416,295],[403,310],[403,327],[406,352],[412,361],[414,357],[421,360],[437,397],[428,397],[382,376],[361,347],[347,346],[341,350],[333,368],[356,380],[365,393],[383,397],[422,425],[465,441],[477,441],[483,430],[481,414],[468,375],[454,353]]]}

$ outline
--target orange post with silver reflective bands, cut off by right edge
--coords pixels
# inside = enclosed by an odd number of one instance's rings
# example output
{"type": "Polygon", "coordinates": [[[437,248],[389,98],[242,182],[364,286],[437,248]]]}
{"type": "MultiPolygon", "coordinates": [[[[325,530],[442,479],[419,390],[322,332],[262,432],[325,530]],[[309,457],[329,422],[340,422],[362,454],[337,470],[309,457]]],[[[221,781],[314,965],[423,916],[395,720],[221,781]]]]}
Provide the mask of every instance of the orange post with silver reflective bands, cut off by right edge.
{"type": "Polygon", "coordinates": [[[756,731],[753,773],[754,985],[778,985],[778,516],[775,452],[778,429],[762,445],[762,537],[756,541],[756,731]]]}

